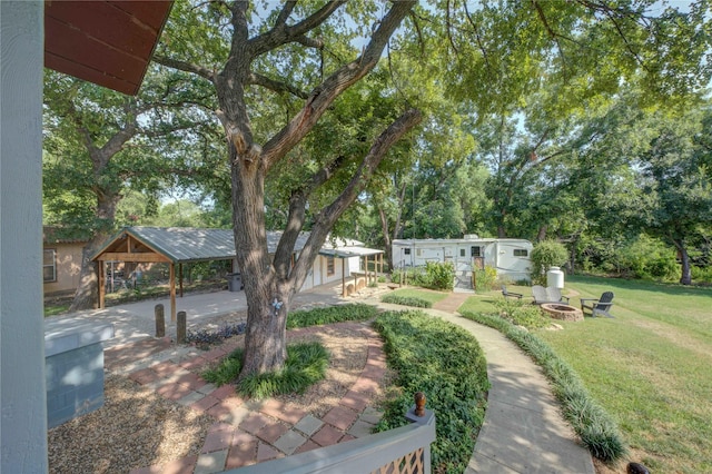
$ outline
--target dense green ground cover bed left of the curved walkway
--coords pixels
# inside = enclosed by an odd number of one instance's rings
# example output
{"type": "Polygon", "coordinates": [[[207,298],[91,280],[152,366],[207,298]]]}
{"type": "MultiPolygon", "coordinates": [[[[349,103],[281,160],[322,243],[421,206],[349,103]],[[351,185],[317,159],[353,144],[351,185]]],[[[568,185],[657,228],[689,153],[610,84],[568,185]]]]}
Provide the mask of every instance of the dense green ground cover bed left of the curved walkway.
{"type": "Polygon", "coordinates": [[[436,413],[433,471],[465,471],[484,421],[487,367],[476,339],[466,330],[422,312],[388,312],[375,322],[388,364],[403,393],[386,406],[377,431],[404,425],[413,395],[423,392],[436,413]]]}

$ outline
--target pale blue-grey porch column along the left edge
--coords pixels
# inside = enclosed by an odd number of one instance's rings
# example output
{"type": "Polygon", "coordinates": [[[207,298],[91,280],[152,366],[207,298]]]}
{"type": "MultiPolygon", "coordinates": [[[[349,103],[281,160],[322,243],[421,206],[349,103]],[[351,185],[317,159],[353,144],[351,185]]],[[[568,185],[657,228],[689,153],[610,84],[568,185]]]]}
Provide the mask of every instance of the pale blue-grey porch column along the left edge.
{"type": "Polygon", "coordinates": [[[43,2],[0,1],[0,472],[44,473],[43,2]]]}

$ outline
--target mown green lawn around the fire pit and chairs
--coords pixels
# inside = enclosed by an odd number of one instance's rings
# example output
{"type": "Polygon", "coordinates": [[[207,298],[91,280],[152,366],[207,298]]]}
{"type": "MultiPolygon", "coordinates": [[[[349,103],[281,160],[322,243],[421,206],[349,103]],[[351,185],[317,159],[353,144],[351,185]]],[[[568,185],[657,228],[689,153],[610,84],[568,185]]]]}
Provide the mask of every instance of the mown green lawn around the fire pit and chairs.
{"type": "MultiPolygon", "coordinates": [[[[617,421],[631,460],[651,472],[712,472],[712,289],[593,277],[567,277],[566,289],[576,306],[580,297],[615,294],[614,319],[561,322],[564,330],[536,334],[617,421]]],[[[467,306],[484,310],[494,297],[467,306]]]]}

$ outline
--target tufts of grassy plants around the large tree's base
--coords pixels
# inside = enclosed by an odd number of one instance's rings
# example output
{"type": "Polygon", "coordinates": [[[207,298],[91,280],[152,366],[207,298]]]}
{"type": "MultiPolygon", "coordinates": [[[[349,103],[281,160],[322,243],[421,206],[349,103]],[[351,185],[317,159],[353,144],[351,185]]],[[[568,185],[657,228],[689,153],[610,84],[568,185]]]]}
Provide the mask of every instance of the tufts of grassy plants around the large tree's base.
{"type": "MultiPolygon", "coordinates": [[[[202,373],[202,378],[218,386],[234,382],[243,367],[244,352],[236,349],[220,364],[202,373]]],[[[278,373],[249,374],[238,384],[237,392],[253,398],[301,394],[326,376],[329,354],[319,343],[287,346],[285,367],[278,373]]]]}

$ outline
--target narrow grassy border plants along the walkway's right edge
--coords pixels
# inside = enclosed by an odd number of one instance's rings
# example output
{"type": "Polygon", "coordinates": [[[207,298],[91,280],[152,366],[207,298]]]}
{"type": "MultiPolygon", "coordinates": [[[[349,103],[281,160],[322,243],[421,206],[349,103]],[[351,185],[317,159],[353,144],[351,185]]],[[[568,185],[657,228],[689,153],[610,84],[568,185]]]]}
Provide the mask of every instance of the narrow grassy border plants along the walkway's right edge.
{"type": "Polygon", "coordinates": [[[574,369],[544,340],[498,316],[469,312],[463,312],[463,316],[494,327],[532,356],[552,382],[565,418],[592,455],[604,462],[615,462],[627,453],[614,419],[591,397],[574,369]]]}

